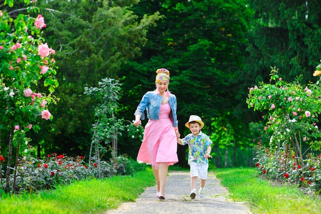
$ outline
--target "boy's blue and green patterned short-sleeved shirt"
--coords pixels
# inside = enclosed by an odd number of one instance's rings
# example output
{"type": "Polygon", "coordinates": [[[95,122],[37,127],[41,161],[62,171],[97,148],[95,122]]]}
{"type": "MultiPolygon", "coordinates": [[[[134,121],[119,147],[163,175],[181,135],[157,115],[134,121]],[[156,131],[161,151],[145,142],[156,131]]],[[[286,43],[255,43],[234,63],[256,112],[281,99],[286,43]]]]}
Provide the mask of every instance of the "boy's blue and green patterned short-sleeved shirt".
{"type": "Polygon", "coordinates": [[[188,164],[195,162],[197,164],[207,164],[208,159],[204,157],[207,146],[212,144],[209,136],[199,131],[197,137],[192,133],[182,139],[182,144],[188,144],[188,164]]]}

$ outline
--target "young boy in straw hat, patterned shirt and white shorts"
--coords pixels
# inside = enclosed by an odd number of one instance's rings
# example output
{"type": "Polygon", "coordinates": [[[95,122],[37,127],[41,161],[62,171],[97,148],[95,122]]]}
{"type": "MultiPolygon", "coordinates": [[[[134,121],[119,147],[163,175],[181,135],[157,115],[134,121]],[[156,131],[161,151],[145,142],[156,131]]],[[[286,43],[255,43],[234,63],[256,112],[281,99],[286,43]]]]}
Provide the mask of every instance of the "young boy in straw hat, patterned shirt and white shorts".
{"type": "Polygon", "coordinates": [[[185,138],[177,139],[180,145],[188,144],[188,164],[190,165],[191,175],[191,199],[196,196],[196,181],[200,178],[200,188],[198,191],[199,197],[204,197],[204,186],[207,179],[208,158],[212,158],[211,139],[202,131],[204,122],[197,115],[191,115],[189,121],[185,124],[191,131],[185,138]]]}

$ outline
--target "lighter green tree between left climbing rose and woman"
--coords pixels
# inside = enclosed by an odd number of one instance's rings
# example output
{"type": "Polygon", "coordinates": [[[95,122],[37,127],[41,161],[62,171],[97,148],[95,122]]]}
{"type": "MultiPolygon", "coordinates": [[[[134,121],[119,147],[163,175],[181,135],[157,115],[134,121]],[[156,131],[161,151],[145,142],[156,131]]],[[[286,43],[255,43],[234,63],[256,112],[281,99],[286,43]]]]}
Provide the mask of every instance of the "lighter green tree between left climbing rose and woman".
{"type": "Polygon", "coordinates": [[[55,93],[61,98],[46,135],[39,135],[38,142],[46,141],[42,152],[89,153],[96,103],[84,88],[98,87],[103,78],[117,79],[120,66],[140,54],[147,29],[159,18],[156,12],[138,18],[131,11],[136,2],[38,1],[48,25],[44,36],[58,50],[55,93]]]}

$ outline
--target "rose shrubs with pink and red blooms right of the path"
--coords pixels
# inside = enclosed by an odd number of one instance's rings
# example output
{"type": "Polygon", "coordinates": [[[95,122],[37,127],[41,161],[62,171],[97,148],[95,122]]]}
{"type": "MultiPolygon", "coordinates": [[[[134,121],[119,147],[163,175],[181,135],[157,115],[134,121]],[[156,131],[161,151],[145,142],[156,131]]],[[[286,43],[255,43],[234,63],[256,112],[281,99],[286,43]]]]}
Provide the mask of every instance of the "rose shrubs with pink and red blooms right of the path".
{"type": "MultiPolygon", "coordinates": [[[[313,76],[321,74],[321,64],[313,76]]],[[[256,167],[269,178],[321,190],[320,156],[304,155],[303,146],[311,151],[321,149],[321,133],[316,125],[321,110],[319,81],[305,87],[298,82],[287,83],[271,71],[270,84],[260,83],[249,89],[248,107],[264,112],[269,146],[257,143],[256,167]],[[275,84],[271,84],[274,81],[275,84]]]]}

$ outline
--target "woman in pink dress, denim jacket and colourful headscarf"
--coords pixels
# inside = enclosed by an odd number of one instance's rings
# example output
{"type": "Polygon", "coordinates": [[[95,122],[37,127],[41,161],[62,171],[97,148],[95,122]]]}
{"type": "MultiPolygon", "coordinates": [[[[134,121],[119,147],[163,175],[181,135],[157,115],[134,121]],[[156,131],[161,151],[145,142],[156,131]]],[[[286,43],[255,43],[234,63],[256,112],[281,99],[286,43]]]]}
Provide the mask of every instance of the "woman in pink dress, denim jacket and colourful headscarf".
{"type": "Polygon", "coordinates": [[[177,122],[177,102],[175,95],[168,91],[169,71],[156,71],[155,91],[147,92],[134,113],[134,125],[138,127],[145,119],[148,123],[144,130],[144,139],[139,149],[137,161],[151,164],[157,183],[156,197],[165,200],[165,184],[168,166],[178,162],[177,138],[180,137],[177,122]]]}

